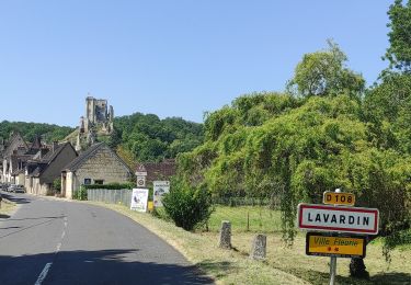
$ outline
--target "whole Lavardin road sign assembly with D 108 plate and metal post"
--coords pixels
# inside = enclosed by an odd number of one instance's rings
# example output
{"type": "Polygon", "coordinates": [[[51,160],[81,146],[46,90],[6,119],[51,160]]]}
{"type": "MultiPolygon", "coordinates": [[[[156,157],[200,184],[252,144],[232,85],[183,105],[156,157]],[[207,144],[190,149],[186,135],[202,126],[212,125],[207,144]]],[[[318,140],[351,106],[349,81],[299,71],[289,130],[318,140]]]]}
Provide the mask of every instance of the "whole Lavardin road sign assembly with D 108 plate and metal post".
{"type": "Polygon", "coordinates": [[[298,204],[297,225],[312,231],[306,235],[307,255],[330,256],[330,285],[334,285],[336,258],[365,256],[365,235],[378,235],[379,210],[353,207],[355,195],[340,189],[324,192],[322,203],[298,204]]]}

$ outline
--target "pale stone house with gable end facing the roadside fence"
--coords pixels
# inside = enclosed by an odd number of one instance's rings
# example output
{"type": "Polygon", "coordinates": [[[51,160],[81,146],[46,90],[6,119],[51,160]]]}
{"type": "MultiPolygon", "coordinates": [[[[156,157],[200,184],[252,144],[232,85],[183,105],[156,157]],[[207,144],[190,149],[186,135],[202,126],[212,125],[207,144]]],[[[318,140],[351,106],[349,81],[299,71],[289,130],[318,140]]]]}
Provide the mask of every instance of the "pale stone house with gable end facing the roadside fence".
{"type": "Polygon", "coordinates": [[[72,198],[81,185],[124,183],[132,178],[128,166],[105,142],[98,142],[64,168],[61,195],[72,198]]]}

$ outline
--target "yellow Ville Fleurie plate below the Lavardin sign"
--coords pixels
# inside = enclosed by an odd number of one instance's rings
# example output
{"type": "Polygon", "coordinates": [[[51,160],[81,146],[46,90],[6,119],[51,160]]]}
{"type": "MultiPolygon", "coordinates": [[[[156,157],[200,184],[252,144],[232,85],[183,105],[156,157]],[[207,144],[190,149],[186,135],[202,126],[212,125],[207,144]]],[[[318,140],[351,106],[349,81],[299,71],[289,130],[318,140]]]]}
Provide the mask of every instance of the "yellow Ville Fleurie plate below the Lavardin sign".
{"type": "Polygon", "coordinates": [[[307,255],[365,258],[366,241],[364,237],[329,237],[308,232],[306,237],[307,255]]]}

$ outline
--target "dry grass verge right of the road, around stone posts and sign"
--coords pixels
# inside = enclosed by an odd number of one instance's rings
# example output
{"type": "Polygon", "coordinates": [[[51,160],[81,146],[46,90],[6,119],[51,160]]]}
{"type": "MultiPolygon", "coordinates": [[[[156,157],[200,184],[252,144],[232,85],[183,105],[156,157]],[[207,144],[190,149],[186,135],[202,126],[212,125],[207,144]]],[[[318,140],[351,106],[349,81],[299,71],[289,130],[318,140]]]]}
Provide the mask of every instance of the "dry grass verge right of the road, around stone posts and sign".
{"type": "MultiPolygon", "coordinates": [[[[89,202],[90,203],[90,202],[89,202]]],[[[258,262],[248,258],[251,241],[258,230],[236,230],[236,224],[244,225],[244,212],[251,208],[217,208],[209,223],[210,231],[189,232],[175,227],[172,223],[159,219],[149,214],[129,210],[125,206],[104,203],[92,203],[114,209],[156,235],[182,252],[189,261],[196,264],[217,284],[328,284],[329,258],[307,256],[305,254],[305,236],[298,235],[293,248],[284,248],[281,233],[275,229],[279,221],[277,213],[272,213],[267,235],[267,259],[258,262]],[[238,213],[236,214],[236,209],[238,213]],[[226,216],[225,216],[226,215],[226,216]],[[227,215],[231,215],[228,217],[227,215]],[[238,218],[232,224],[233,250],[221,250],[217,247],[219,219],[238,218]],[[274,225],[275,224],[275,225],[274,225]]],[[[264,221],[266,223],[266,220],[264,221]]],[[[262,232],[264,228],[262,228],[262,232]]],[[[350,277],[350,259],[338,259],[338,284],[411,284],[411,250],[396,249],[391,253],[391,263],[385,262],[381,246],[373,243],[367,247],[365,264],[370,274],[369,281],[350,277]]]]}

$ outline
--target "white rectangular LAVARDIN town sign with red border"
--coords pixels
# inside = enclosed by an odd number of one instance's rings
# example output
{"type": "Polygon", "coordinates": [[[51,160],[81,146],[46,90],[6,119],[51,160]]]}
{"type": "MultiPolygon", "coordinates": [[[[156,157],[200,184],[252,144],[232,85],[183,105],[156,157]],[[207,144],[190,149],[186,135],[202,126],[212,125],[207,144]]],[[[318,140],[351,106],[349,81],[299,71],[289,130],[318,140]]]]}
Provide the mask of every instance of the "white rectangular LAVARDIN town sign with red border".
{"type": "Polygon", "coordinates": [[[379,212],[376,208],[298,205],[300,229],[377,235],[378,220],[379,212]]]}

